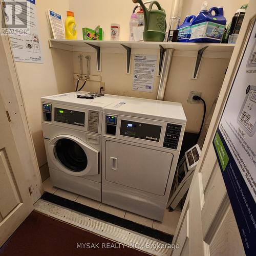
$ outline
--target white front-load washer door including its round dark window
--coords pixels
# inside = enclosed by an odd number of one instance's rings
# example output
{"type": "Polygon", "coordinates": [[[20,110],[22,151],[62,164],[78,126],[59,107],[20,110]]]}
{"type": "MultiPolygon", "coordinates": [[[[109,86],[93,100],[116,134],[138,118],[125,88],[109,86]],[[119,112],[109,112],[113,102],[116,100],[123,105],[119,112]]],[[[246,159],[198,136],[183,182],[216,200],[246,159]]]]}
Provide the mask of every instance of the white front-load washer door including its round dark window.
{"type": "Polygon", "coordinates": [[[99,152],[71,135],[59,135],[49,142],[49,155],[56,168],[73,176],[99,174],[99,152]]]}

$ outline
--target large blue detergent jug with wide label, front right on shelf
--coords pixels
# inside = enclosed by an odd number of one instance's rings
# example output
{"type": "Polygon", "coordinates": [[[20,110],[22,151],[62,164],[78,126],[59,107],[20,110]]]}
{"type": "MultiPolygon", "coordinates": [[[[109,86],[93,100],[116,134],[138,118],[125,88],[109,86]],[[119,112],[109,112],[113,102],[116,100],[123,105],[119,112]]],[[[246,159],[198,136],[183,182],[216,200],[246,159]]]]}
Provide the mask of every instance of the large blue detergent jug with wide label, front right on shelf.
{"type": "Polygon", "coordinates": [[[204,1],[201,11],[191,25],[189,42],[221,42],[225,30],[226,18],[223,7],[212,7],[207,11],[207,2],[204,1]],[[212,15],[212,12],[215,15],[212,15]]]}

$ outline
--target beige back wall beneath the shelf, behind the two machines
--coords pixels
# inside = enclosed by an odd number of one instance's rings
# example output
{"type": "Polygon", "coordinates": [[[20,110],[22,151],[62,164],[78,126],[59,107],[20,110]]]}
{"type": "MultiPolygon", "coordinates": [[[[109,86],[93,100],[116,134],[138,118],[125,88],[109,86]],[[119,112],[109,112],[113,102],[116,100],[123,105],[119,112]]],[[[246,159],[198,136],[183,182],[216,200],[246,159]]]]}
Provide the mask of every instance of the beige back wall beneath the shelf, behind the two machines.
{"type": "MultiPolygon", "coordinates": [[[[92,52],[74,52],[74,73],[80,73],[78,55],[91,56],[90,74],[100,75],[101,80],[105,82],[105,92],[107,94],[124,95],[139,98],[156,99],[159,76],[155,77],[154,88],[152,93],[138,92],[132,90],[133,82],[133,67],[134,67],[134,53],[138,54],[156,54],[159,55],[159,51],[155,50],[136,50],[132,49],[132,61],[131,61],[131,74],[125,74],[126,54],[123,53],[102,53],[102,68],[101,72],[96,70],[96,53],[92,52]]],[[[225,71],[228,67],[229,58],[208,58],[203,57],[197,79],[191,79],[191,75],[194,70],[196,62],[196,54],[185,53],[185,57],[181,56],[184,51],[175,51],[172,58],[172,65],[169,71],[169,77],[165,92],[164,100],[181,102],[187,117],[186,131],[197,133],[200,129],[203,105],[187,103],[188,95],[190,91],[202,92],[202,98],[207,105],[207,115],[211,109],[218,92],[221,88],[225,71]],[[186,56],[187,55],[187,56],[186,56]]],[[[83,70],[86,73],[86,61],[84,60],[83,70]]],[[[157,62],[158,67],[158,62],[157,62]]],[[[76,84],[76,81],[74,82],[76,84]]],[[[80,81],[80,85],[82,81],[80,81]]],[[[88,80],[84,90],[90,92],[99,92],[100,83],[88,80]]]]}

